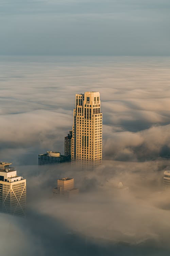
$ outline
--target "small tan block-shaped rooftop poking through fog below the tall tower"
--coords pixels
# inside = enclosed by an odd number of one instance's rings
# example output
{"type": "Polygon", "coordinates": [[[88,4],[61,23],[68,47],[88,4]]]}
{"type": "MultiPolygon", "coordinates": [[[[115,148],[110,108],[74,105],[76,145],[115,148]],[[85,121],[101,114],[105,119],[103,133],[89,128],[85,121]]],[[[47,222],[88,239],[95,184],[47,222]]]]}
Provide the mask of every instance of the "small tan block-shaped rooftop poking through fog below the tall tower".
{"type": "Polygon", "coordinates": [[[66,177],[57,180],[57,187],[53,189],[53,193],[56,196],[70,197],[77,195],[79,189],[74,188],[74,179],[66,177]]]}

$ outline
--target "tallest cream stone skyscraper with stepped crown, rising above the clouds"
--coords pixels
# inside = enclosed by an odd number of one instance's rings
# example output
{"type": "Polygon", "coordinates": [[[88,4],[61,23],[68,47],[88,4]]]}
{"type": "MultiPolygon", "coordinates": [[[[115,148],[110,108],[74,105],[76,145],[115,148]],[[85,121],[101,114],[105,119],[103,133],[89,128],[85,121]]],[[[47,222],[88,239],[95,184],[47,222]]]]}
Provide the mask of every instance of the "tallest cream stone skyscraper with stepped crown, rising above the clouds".
{"type": "Polygon", "coordinates": [[[100,93],[75,95],[71,159],[83,162],[102,160],[102,113],[100,93]]]}

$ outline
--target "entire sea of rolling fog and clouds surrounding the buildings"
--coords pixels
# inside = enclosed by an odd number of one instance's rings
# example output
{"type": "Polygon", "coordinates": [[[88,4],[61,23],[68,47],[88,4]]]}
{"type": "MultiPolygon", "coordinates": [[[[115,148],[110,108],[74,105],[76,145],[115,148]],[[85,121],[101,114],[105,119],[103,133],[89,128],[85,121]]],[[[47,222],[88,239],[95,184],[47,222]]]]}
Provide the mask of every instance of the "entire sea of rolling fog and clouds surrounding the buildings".
{"type": "Polygon", "coordinates": [[[1,56],[0,160],[27,179],[26,218],[0,213],[4,256],[169,255],[169,68],[165,56],[1,56]],[[101,96],[102,166],[38,166],[64,153],[75,93],[88,90],[101,96]],[[63,176],[80,189],[72,201],[52,196],[63,176]]]}

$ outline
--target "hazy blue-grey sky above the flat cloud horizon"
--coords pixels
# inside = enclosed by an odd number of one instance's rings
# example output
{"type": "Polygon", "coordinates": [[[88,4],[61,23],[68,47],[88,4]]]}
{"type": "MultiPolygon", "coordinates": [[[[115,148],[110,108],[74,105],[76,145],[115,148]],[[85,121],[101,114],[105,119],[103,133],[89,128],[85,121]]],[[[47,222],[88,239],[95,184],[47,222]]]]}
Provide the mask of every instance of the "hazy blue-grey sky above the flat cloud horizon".
{"type": "Polygon", "coordinates": [[[0,0],[0,55],[170,55],[169,0],[0,0]]]}

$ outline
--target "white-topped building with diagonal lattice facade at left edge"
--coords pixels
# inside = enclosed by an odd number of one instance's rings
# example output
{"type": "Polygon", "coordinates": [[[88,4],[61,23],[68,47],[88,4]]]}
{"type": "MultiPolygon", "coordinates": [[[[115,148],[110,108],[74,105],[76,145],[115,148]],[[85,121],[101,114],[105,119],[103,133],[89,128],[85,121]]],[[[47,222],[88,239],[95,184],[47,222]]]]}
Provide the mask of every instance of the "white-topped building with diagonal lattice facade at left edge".
{"type": "Polygon", "coordinates": [[[26,179],[16,170],[0,170],[0,209],[4,213],[23,216],[26,209],[26,179]]]}

